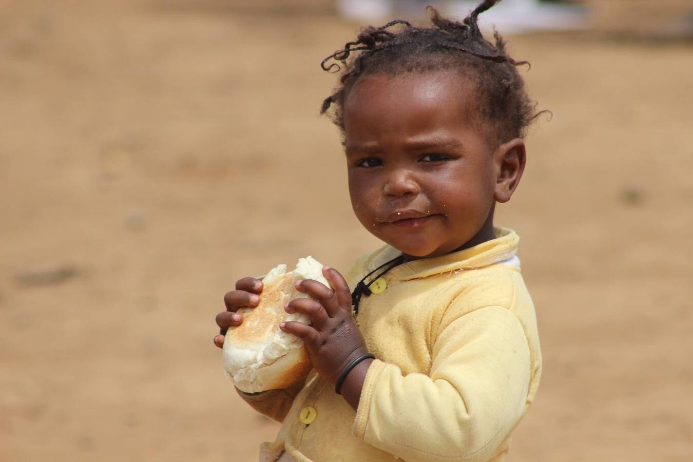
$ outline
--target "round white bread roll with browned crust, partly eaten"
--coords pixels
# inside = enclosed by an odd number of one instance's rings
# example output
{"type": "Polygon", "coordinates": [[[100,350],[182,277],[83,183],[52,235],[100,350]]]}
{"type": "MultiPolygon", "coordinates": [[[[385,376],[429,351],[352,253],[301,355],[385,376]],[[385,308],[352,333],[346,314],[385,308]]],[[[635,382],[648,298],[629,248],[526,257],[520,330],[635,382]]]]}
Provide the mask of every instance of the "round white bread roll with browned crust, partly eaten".
{"type": "Polygon", "coordinates": [[[263,291],[256,308],[241,308],[240,326],[230,327],[224,339],[224,367],[236,387],[246,393],[281,389],[308,375],[310,359],[303,341],[279,330],[283,321],[310,323],[306,314],[284,311],[293,299],[307,297],[294,283],[315,279],[331,287],[322,276],[322,265],[315,258],[299,258],[294,271],[279,265],[263,278],[263,291]]]}

